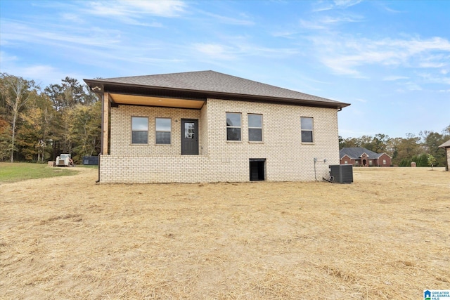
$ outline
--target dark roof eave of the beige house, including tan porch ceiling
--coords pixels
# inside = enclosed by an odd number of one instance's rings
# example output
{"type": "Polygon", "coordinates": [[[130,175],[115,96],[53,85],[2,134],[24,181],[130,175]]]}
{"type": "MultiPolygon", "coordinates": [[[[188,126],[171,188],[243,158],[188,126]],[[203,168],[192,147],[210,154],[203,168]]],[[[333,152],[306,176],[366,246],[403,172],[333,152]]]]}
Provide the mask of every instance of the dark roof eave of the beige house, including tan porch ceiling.
{"type": "Polygon", "coordinates": [[[113,103],[124,105],[148,105],[200,109],[207,98],[258,103],[277,103],[286,105],[326,107],[335,108],[338,110],[350,105],[349,103],[342,102],[274,98],[267,96],[244,95],[240,93],[221,93],[214,91],[165,88],[160,86],[122,84],[115,82],[105,82],[96,79],[84,79],[84,81],[89,86],[91,91],[97,93],[98,96],[103,95],[103,93],[105,92],[110,93],[113,103]]]}

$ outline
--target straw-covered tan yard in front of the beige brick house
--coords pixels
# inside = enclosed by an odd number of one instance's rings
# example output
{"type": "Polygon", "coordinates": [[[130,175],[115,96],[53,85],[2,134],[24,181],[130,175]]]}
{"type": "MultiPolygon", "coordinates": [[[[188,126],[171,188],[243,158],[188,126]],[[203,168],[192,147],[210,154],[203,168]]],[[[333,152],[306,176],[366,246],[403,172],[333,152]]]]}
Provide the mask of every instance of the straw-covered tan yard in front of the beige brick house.
{"type": "Polygon", "coordinates": [[[1,299],[422,299],[450,288],[450,172],[354,183],[0,185],[1,299]]]}

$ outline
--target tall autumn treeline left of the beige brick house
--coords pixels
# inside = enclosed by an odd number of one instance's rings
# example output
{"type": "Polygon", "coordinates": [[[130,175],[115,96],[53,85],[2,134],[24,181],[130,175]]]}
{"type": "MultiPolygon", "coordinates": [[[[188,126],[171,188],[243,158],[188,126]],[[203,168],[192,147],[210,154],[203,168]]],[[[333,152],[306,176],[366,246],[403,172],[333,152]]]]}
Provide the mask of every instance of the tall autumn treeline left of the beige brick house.
{"type": "Polygon", "coordinates": [[[46,162],[70,153],[75,163],[98,155],[101,101],[77,79],[44,89],[0,73],[0,161],[46,162]]]}

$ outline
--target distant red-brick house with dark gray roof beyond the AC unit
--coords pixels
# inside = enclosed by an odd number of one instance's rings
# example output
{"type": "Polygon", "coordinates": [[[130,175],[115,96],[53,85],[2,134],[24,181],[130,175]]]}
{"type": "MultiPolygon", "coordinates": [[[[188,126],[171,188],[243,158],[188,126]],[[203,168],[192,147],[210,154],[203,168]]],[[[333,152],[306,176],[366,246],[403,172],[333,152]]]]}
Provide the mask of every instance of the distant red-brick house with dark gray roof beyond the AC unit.
{"type": "Polygon", "coordinates": [[[386,153],[375,153],[366,148],[342,148],[339,152],[340,164],[352,164],[356,167],[390,167],[392,157],[386,153]]]}

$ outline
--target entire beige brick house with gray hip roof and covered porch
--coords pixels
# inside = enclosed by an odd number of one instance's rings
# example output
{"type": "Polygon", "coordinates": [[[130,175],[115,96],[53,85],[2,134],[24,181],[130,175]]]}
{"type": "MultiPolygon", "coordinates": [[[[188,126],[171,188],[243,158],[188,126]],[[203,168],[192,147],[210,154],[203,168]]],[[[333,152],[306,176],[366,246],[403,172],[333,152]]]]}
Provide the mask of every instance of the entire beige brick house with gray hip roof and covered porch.
{"type": "Polygon", "coordinates": [[[103,101],[102,183],[314,181],[339,164],[347,103],[213,71],[84,81],[103,101]]]}

